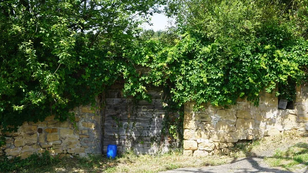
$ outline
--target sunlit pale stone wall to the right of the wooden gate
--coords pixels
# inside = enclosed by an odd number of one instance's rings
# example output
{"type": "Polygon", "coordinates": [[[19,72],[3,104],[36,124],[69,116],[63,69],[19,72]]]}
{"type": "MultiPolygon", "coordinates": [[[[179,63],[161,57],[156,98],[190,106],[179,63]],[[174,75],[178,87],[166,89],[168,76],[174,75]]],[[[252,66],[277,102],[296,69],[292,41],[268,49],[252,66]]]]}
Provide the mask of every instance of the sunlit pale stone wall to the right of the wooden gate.
{"type": "Polygon", "coordinates": [[[204,105],[193,111],[195,103],[185,105],[184,155],[207,156],[227,150],[239,140],[253,140],[280,134],[285,130],[306,130],[308,87],[296,88],[294,109],[278,109],[275,93],[260,93],[259,106],[239,99],[228,108],[204,105]]]}

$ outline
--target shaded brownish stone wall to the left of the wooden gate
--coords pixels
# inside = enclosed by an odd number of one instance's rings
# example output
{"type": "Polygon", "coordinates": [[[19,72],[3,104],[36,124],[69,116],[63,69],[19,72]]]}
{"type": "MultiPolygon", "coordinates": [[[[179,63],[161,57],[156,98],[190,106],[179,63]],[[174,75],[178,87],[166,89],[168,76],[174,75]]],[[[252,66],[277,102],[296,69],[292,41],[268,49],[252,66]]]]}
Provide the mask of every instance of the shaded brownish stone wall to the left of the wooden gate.
{"type": "Polygon", "coordinates": [[[0,147],[0,156],[24,159],[46,150],[63,156],[101,153],[100,111],[81,106],[73,112],[74,122],[59,122],[50,116],[43,122],[25,122],[16,132],[5,133],[6,145],[0,147]]]}

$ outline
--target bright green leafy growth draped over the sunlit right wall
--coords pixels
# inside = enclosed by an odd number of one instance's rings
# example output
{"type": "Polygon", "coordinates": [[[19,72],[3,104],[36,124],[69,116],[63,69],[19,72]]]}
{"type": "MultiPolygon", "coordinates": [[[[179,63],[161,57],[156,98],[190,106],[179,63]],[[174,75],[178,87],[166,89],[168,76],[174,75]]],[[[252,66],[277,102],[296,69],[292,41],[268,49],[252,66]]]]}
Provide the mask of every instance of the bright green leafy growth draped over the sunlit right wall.
{"type": "Polygon", "coordinates": [[[261,90],[307,79],[307,1],[174,0],[168,14],[176,17],[176,44],[152,39],[156,52],[145,51],[143,63],[148,82],[168,85],[180,105],[239,97],[257,105],[261,90]]]}

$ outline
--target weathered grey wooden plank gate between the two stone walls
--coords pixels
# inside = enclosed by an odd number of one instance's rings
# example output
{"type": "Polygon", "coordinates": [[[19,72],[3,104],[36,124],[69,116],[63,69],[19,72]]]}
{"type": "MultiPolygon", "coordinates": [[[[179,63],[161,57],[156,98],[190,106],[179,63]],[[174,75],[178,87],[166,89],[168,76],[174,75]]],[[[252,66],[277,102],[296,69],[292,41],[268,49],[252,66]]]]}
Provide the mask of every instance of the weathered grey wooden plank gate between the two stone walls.
{"type": "Polygon", "coordinates": [[[149,90],[152,102],[125,99],[121,89],[108,90],[105,97],[103,152],[108,144],[117,144],[120,152],[152,154],[167,151],[170,141],[161,135],[165,110],[163,92],[149,90]]]}

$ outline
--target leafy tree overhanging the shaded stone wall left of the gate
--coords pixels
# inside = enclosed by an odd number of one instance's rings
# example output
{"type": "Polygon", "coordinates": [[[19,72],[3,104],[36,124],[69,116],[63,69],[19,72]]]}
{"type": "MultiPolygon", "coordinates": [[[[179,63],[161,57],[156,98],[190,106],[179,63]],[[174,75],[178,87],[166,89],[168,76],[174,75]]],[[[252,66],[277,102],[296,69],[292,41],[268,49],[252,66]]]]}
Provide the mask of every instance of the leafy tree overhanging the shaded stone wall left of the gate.
{"type": "Polygon", "coordinates": [[[0,1],[0,125],[6,129],[51,114],[66,120],[69,109],[92,102],[119,76],[136,76],[126,51],[161,4],[0,1]]]}

